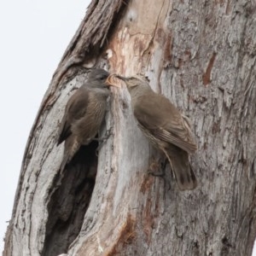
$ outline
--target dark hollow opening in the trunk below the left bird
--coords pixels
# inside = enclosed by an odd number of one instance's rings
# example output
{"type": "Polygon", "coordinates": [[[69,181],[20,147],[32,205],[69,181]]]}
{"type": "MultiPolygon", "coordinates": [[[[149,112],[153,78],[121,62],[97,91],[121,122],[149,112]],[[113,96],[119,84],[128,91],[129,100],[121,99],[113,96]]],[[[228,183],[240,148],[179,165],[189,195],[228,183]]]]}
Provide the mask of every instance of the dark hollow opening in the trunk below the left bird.
{"type": "Polygon", "coordinates": [[[44,250],[41,255],[67,253],[69,245],[79,235],[84,215],[90,204],[97,169],[97,142],[82,146],[66,167],[60,183],[55,177],[48,204],[48,222],[44,250]]]}

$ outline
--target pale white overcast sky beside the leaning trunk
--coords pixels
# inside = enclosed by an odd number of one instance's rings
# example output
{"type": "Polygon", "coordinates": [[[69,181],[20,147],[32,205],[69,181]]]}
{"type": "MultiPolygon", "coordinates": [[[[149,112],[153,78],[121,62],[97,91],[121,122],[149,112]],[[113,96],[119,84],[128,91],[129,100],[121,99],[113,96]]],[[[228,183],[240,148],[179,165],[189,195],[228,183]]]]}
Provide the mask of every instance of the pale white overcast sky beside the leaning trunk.
{"type": "Polygon", "coordinates": [[[27,137],[50,79],[89,3],[90,0],[0,2],[0,253],[27,137]]]}

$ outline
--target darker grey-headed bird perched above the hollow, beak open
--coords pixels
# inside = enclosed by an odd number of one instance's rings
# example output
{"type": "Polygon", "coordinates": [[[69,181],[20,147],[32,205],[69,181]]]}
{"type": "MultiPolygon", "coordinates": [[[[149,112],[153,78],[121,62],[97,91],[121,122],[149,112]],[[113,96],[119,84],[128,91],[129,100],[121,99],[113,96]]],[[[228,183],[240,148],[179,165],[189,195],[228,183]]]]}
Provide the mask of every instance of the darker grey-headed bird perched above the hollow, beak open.
{"type": "Polygon", "coordinates": [[[109,75],[102,68],[92,69],[87,81],[67,101],[57,133],[57,146],[65,141],[61,172],[82,145],[96,140],[110,95],[108,85],[113,85],[109,75]]]}

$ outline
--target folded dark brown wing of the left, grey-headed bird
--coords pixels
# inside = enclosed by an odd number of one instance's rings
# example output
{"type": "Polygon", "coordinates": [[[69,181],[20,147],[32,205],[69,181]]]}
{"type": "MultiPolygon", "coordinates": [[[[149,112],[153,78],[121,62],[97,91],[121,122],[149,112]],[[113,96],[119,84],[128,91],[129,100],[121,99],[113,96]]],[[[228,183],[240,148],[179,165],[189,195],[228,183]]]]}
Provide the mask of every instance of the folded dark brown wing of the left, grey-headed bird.
{"type": "Polygon", "coordinates": [[[86,113],[88,103],[88,91],[84,88],[79,88],[67,102],[64,116],[61,120],[59,128],[59,136],[57,144],[61,144],[72,133],[71,125],[75,120],[81,119],[86,113]]]}

